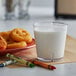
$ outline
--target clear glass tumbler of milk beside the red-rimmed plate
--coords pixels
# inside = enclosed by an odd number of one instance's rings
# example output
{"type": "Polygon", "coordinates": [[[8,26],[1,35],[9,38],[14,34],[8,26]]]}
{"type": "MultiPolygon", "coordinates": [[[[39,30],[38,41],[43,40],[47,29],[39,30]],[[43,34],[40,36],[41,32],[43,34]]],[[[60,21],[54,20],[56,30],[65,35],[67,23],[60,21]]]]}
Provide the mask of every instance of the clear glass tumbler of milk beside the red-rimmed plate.
{"type": "Polygon", "coordinates": [[[34,26],[39,60],[56,61],[64,57],[67,25],[61,22],[38,22],[34,26]]]}

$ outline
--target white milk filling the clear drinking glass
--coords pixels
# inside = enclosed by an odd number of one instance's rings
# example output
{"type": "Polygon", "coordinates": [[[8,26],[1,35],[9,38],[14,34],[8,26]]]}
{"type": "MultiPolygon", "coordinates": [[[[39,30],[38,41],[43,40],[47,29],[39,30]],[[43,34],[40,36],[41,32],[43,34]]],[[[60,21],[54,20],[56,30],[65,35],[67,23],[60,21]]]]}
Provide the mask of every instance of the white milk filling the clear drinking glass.
{"type": "Polygon", "coordinates": [[[57,59],[64,56],[66,31],[61,30],[34,30],[38,57],[57,59]]]}

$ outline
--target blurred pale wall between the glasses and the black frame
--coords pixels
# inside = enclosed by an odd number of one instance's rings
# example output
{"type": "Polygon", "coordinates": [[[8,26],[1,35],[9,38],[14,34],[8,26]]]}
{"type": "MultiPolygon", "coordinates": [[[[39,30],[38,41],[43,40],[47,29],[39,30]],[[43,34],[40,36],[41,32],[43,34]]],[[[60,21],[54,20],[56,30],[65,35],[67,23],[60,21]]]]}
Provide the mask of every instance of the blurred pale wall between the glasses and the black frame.
{"type": "MultiPolygon", "coordinates": [[[[55,0],[31,0],[31,5],[29,9],[30,14],[33,12],[35,17],[40,15],[41,17],[51,17],[54,16],[55,11],[55,0]]],[[[38,17],[37,17],[38,18],[38,17]]]]}

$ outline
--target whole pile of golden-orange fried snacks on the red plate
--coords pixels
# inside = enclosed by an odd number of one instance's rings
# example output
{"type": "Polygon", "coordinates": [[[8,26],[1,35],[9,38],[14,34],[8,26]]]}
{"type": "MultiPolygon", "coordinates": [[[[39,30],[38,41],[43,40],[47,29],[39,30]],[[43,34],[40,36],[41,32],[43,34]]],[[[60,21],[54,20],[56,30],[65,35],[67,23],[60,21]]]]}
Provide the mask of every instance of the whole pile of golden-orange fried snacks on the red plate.
{"type": "Polygon", "coordinates": [[[0,50],[23,48],[30,42],[32,42],[32,36],[22,28],[0,32],[0,50]]]}

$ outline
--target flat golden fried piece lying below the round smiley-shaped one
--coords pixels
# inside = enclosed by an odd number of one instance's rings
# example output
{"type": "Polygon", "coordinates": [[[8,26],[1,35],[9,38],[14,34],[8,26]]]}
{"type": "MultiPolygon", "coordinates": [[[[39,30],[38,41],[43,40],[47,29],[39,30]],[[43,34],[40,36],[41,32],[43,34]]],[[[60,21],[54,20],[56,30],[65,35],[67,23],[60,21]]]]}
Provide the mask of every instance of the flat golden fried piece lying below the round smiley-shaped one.
{"type": "Polygon", "coordinates": [[[27,46],[27,43],[25,41],[14,42],[14,43],[8,44],[7,49],[23,48],[23,47],[26,47],[26,46],[27,46]]]}

